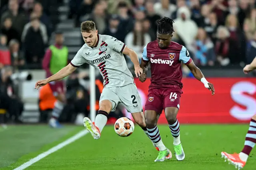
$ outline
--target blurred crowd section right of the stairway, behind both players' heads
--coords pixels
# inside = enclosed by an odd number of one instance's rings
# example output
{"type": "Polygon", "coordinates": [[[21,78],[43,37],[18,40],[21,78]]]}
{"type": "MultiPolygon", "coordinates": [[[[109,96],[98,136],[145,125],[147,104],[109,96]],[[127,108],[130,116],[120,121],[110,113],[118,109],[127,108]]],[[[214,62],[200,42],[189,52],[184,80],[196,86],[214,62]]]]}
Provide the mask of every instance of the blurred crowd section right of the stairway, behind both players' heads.
{"type": "Polygon", "coordinates": [[[139,57],[156,40],[156,20],[174,20],[174,37],[202,66],[241,65],[256,56],[255,0],[72,0],[76,26],[96,22],[99,34],[118,38],[139,57]]]}

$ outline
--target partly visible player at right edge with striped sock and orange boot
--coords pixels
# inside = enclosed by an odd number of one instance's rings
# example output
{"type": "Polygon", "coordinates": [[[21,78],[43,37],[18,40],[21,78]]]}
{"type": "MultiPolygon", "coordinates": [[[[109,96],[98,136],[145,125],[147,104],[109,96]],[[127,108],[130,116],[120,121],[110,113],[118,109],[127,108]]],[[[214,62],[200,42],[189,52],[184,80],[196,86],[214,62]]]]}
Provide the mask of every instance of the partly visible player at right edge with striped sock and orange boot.
{"type": "MultiPolygon", "coordinates": [[[[248,74],[252,70],[256,69],[256,57],[252,63],[246,65],[243,69],[245,74],[248,74]]],[[[249,130],[245,136],[244,148],[240,153],[228,154],[227,152],[221,152],[222,158],[224,157],[225,162],[228,160],[229,163],[236,166],[238,170],[244,168],[247,159],[252,152],[256,144],[256,115],[254,115],[250,121],[249,130]]]]}

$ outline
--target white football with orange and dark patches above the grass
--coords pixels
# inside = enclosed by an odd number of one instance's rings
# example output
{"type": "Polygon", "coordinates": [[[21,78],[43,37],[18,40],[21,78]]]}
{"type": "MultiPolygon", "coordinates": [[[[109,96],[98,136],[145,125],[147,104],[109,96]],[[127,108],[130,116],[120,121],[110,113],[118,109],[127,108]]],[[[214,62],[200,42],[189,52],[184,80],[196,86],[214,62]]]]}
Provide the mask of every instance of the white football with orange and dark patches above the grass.
{"type": "Polygon", "coordinates": [[[134,123],[127,117],[121,117],[114,124],[114,129],[119,136],[127,137],[134,131],[134,123]]]}

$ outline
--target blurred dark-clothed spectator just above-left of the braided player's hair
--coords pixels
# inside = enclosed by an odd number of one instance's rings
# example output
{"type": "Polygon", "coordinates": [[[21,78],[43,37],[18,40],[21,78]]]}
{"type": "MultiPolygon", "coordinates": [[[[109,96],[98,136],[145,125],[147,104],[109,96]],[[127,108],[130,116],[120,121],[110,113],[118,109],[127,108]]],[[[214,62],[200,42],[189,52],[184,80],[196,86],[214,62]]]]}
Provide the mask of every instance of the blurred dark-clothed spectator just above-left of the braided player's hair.
{"type": "Polygon", "coordinates": [[[146,12],[147,12],[147,18],[150,20],[150,24],[153,28],[154,34],[156,33],[157,30],[157,25],[156,21],[161,18],[160,15],[156,14],[154,10],[154,3],[153,1],[148,0],[146,2],[146,12]]]}

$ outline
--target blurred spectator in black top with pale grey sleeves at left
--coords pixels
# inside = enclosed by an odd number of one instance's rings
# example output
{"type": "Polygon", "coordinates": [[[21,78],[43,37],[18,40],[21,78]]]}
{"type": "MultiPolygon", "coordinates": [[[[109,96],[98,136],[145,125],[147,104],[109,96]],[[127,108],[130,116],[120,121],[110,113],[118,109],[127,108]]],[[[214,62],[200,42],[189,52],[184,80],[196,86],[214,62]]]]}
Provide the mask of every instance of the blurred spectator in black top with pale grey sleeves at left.
{"type": "Polygon", "coordinates": [[[44,56],[48,36],[46,26],[33,13],[31,14],[30,22],[24,27],[21,40],[26,62],[28,64],[40,64],[44,56]]]}

